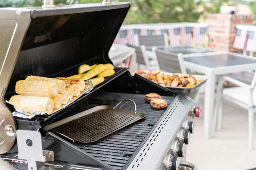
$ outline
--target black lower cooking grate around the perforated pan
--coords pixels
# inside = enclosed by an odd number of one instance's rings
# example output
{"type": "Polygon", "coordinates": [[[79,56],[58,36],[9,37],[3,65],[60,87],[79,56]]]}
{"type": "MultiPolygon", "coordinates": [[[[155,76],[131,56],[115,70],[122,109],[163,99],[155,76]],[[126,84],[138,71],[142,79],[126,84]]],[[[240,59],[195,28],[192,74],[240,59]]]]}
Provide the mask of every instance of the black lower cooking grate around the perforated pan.
{"type": "MultiPolygon", "coordinates": [[[[144,100],[145,95],[102,92],[76,105],[70,112],[79,113],[98,105],[116,105],[124,99],[132,99],[137,105],[137,111],[145,114],[145,118],[123,128],[93,144],[79,145],[85,152],[97,157],[99,160],[121,170],[129,161],[134,152],[160,119],[165,110],[154,110],[144,100]]],[[[169,104],[174,100],[172,96],[162,96],[169,104]]],[[[125,102],[120,108],[134,110],[131,102],[125,102]]]]}

